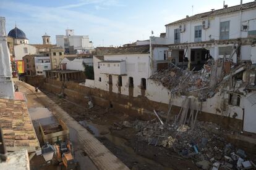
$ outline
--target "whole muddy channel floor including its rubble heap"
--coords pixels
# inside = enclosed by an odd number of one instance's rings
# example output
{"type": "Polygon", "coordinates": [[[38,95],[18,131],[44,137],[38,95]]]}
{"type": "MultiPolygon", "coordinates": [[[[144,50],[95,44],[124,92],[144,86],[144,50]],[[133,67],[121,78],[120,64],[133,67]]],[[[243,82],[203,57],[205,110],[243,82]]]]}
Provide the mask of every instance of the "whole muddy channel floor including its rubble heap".
{"type": "Polygon", "coordinates": [[[229,145],[221,136],[224,130],[213,123],[197,122],[194,129],[171,123],[163,126],[158,119],[142,121],[113,108],[87,109],[55,95],[48,96],[130,169],[212,169],[213,165],[218,169],[236,169],[237,162],[241,166],[241,159],[237,161],[236,157],[242,158],[244,166],[247,163],[253,167],[256,162],[254,153],[243,153],[243,147],[239,150],[229,145]],[[228,168],[231,165],[233,168],[228,168]]]}

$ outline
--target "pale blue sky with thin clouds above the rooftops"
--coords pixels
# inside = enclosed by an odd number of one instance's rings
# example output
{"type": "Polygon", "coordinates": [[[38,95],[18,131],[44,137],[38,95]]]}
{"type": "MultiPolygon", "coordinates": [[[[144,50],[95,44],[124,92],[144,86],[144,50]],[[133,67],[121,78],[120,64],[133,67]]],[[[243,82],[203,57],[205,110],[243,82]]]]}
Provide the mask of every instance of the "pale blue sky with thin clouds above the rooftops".
{"type": "Polygon", "coordinates": [[[30,44],[41,44],[45,33],[54,44],[68,28],[88,35],[94,47],[107,47],[149,39],[151,30],[159,36],[168,23],[222,7],[223,0],[0,0],[0,16],[6,17],[7,33],[16,23],[30,44]]]}

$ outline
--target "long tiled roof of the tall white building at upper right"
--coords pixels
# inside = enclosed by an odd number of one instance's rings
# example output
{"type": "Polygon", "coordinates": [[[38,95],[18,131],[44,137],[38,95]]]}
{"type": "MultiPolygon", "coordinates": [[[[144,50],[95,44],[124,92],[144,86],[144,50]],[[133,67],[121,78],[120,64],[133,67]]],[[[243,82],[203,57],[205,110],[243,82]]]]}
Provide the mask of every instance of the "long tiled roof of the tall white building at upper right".
{"type": "MultiPolygon", "coordinates": [[[[256,7],[256,2],[249,2],[246,4],[242,4],[242,10],[247,10],[247,9],[252,9],[256,7]]],[[[237,12],[241,10],[241,6],[232,6],[232,7],[227,7],[227,8],[223,8],[223,9],[218,9],[218,10],[213,10],[210,12],[204,12],[201,14],[196,14],[196,15],[192,15],[191,17],[187,17],[187,18],[183,18],[181,20],[177,20],[176,22],[172,22],[172,23],[168,23],[165,26],[168,25],[176,25],[177,23],[184,23],[184,22],[189,22],[191,20],[198,20],[200,18],[207,18],[207,17],[213,17],[216,15],[223,15],[223,14],[228,14],[231,12],[237,12]]]]}

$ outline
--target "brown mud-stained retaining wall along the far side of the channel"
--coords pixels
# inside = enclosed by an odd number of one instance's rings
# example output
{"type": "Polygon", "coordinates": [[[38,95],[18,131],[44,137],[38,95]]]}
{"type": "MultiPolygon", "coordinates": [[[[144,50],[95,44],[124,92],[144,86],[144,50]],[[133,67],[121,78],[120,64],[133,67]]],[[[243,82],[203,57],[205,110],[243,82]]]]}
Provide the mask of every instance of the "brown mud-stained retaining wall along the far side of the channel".
{"type": "MultiPolygon", "coordinates": [[[[155,109],[160,115],[165,118],[168,111],[168,105],[160,102],[153,102],[148,100],[147,97],[129,97],[128,95],[117,94],[109,91],[103,91],[96,88],[81,86],[79,83],[66,82],[62,83],[55,79],[38,77],[27,77],[27,83],[32,86],[38,86],[41,89],[51,92],[53,94],[59,94],[64,92],[65,98],[72,102],[78,103],[83,107],[88,106],[87,97],[90,96],[93,99],[95,105],[100,105],[104,108],[113,107],[115,110],[122,111],[123,113],[135,116],[140,119],[155,118],[153,110],[155,109]],[[64,87],[64,88],[63,88],[64,87]]],[[[179,113],[179,107],[173,106],[171,110],[171,118],[179,113]]],[[[213,123],[220,124],[222,127],[242,130],[242,120],[229,118],[221,115],[214,115],[211,113],[202,112],[198,114],[200,121],[211,121],[213,123]]]]}

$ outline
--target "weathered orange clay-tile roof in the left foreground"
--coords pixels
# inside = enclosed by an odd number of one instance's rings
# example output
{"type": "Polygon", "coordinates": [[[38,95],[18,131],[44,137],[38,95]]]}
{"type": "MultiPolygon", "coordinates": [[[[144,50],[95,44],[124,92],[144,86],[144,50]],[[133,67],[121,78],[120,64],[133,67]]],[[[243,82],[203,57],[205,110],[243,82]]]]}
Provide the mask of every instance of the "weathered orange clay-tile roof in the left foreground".
{"type": "Polygon", "coordinates": [[[40,150],[25,101],[0,99],[0,126],[7,151],[40,150]]]}

